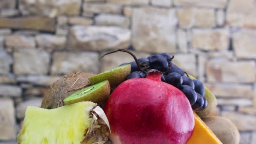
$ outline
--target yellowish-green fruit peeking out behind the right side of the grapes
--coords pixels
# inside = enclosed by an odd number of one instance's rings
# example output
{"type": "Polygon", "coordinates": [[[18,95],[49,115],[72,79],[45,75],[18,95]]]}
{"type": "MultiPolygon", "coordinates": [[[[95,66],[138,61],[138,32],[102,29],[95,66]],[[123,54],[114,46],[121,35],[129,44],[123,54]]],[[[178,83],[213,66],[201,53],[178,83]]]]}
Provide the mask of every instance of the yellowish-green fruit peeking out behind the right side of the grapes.
{"type": "MultiPolygon", "coordinates": [[[[191,78],[192,80],[196,79],[195,77],[193,77],[191,75],[189,75],[189,78],[191,78]]],[[[207,107],[202,111],[196,112],[197,115],[201,118],[206,117],[218,105],[216,97],[206,86],[205,86],[205,95],[204,95],[204,97],[208,101],[207,107]]]]}

